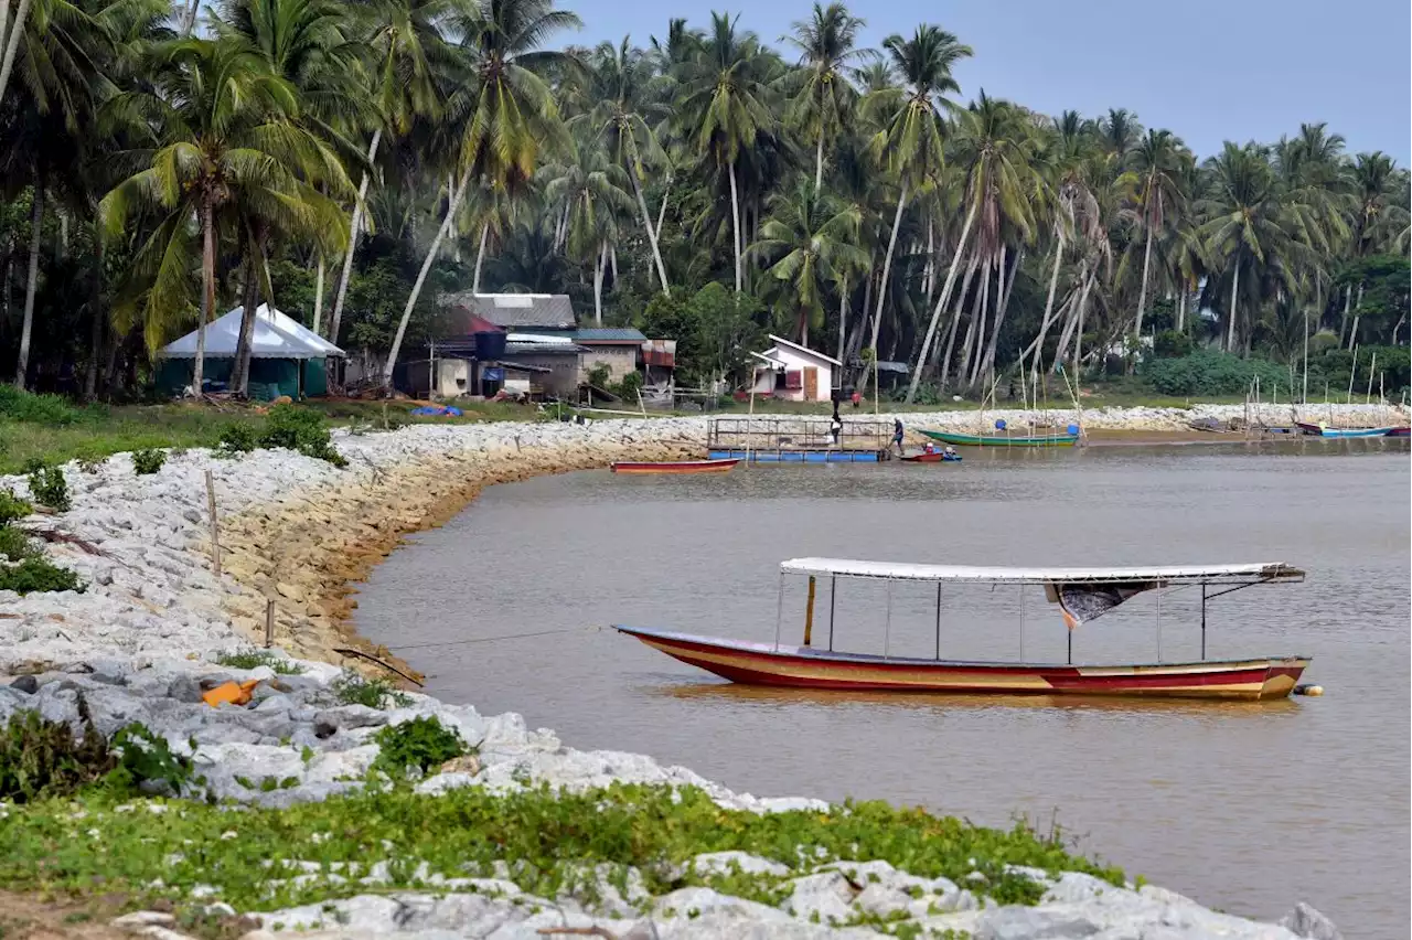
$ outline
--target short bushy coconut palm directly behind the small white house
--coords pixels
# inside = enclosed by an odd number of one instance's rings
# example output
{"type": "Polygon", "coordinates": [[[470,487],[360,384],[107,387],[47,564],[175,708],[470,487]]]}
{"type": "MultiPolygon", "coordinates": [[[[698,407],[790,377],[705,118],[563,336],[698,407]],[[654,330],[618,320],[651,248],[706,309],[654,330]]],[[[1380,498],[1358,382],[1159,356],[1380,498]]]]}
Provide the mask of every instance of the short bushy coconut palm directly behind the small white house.
{"type": "Polygon", "coordinates": [[[795,311],[795,336],[805,346],[810,327],[823,326],[829,287],[867,265],[868,255],[857,243],[860,223],[854,206],[843,206],[805,182],[770,198],[770,216],[750,251],[770,265],[765,274],[795,311]]]}

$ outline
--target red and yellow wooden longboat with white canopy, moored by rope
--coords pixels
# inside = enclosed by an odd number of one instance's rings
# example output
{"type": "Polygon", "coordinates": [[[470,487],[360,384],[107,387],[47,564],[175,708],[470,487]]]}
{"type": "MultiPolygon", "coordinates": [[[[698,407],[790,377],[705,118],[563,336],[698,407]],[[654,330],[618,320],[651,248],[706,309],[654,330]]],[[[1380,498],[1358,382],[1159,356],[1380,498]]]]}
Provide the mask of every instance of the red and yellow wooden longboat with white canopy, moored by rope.
{"type": "MultiPolygon", "coordinates": [[[[1309,656],[1207,659],[1207,603],[1261,584],[1302,583],[1305,573],[1282,562],[1254,565],[1193,565],[1173,567],[970,567],[850,559],[801,558],[779,566],[779,607],[775,642],[744,642],[634,627],[616,627],[648,646],[731,682],[806,689],[851,689],[938,693],[1166,696],[1183,699],[1284,699],[1309,666],[1309,656]],[[781,639],[785,582],[808,579],[803,644],[781,639]],[[819,580],[829,582],[827,646],[815,645],[815,601],[819,580]],[[888,590],[882,653],[842,652],[833,648],[839,582],[885,582],[888,590]],[[935,583],[936,651],[932,658],[895,656],[888,651],[892,631],[891,591],[899,583],[935,583]],[[942,659],[942,584],[1042,586],[1069,628],[1069,658],[1063,663],[973,662],[942,659]],[[1202,658],[1163,662],[1162,596],[1175,589],[1202,591],[1202,658]],[[1213,590],[1214,589],[1214,590],[1213,590]],[[1075,665],[1073,631],[1117,608],[1128,598],[1156,593],[1156,662],[1075,665]]],[[[1171,620],[1171,617],[1169,617],[1171,620]]],[[[1021,608],[1021,651],[1024,613],[1021,608]]],[[[1024,652],[1021,652],[1021,659],[1024,652]]]]}

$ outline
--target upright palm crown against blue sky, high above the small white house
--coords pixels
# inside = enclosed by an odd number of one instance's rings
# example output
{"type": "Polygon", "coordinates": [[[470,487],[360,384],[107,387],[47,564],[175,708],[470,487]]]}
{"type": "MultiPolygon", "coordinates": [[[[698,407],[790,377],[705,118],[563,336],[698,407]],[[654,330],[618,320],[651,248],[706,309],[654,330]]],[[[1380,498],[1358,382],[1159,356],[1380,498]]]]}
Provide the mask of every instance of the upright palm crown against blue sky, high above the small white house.
{"type": "Polygon", "coordinates": [[[813,188],[823,189],[823,144],[836,135],[851,117],[858,92],[847,73],[854,62],[875,59],[871,49],[860,49],[858,31],[867,25],[842,3],[813,4],[813,17],[792,24],[794,35],[781,42],[799,51],[799,69],[788,75],[792,117],[798,127],[815,138],[813,188]]]}

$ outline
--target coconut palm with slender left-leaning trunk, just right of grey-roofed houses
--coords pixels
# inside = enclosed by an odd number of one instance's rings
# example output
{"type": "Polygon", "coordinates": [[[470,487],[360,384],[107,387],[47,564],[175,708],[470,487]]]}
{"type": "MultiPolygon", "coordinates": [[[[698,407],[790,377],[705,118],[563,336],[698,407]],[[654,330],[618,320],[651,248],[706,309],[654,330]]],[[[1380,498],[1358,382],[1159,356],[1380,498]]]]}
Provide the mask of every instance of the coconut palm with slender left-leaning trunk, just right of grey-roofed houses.
{"type": "Polygon", "coordinates": [[[655,75],[651,56],[631,48],[627,37],[618,45],[603,42],[594,51],[589,72],[590,102],[596,102],[589,120],[597,128],[613,158],[627,171],[633,196],[652,250],[652,263],[662,294],[671,295],[666,265],[658,244],[658,231],[647,210],[642,181],[647,171],[668,165],[666,152],[657,137],[657,127],[669,116],[664,82],[655,75]]]}

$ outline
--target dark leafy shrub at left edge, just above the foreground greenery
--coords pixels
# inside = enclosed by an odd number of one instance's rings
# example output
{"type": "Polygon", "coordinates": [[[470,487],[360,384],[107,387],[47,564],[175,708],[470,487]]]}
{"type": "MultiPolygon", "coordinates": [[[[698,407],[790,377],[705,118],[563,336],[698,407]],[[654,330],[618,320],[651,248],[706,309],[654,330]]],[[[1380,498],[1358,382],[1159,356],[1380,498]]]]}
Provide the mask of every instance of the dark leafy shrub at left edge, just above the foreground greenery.
{"type": "Polygon", "coordinates": [[[80,735],[66,721],[38,711],[17,711],[0,730],[0,800],[30,803],[69,796],[103,779],[117,766],[109,742],[93,727],[88,701],[79,696],[80,735]]]}

